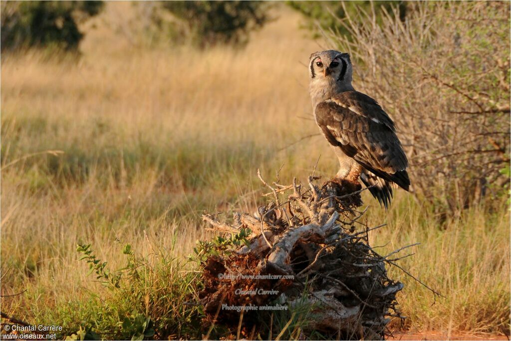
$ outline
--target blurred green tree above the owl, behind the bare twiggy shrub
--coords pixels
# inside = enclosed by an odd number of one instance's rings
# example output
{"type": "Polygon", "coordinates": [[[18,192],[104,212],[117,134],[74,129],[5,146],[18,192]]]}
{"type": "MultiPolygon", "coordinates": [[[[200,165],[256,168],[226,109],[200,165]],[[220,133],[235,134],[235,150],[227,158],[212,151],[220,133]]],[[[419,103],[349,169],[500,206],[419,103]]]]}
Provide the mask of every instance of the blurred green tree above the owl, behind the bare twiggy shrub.
{"type": "Polygon", "coordinates": [[[320,30],[350,36],[350,32],[340,24],[340,20],[355,15],[358,11],[372,13],[374,10],[378,24],[381,24],[383,18],[382,10],[392,13],[392,6],[399,8],[401,20],[406,16],[406,1],[287,1],[287,4],[306,17],[303,27],[311,30],[316,38],[320,35],[320,30]]]}

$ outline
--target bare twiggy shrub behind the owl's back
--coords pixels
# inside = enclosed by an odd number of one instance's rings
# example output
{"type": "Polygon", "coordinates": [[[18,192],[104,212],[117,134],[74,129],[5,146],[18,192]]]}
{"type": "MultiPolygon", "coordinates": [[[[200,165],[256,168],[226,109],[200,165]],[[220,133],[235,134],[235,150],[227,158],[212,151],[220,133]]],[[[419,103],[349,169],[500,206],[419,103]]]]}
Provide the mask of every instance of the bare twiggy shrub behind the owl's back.
{"type": "Polygon", "coordinates": [[[506,193],[509,177],[509,7],[412,3],[405,21],[383,10],[338,21],[355,86],[396,121],[412,187],[456,211],[506,193]],[[502,191],[504,190],[504,192],[502,191]]]}

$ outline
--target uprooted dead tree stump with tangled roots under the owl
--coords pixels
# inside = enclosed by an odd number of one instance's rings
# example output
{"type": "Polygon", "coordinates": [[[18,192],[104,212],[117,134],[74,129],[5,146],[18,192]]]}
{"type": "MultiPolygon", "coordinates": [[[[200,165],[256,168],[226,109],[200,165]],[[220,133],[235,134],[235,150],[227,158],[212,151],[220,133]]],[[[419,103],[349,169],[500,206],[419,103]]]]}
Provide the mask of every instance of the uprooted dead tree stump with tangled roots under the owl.
{"type": "Polygon", "coordinates": [[[314,176],[305,188],[260,178],[272,199],[254,214],[235,214],[230,224],[203,215],[225,233],[200,251],[207,255],[199,294],[207,323],[253,338],[262,310],[305,305],[310,318],[298,338],[315,331],[332,339],[384,339],[390,317],[403,318],[396,307],[403,284],[388,278],[386,265],[406,247],[387,256],[370,247],[368,232],[384,225],[362,222],[361,191],[331,181],[317,186],[314,176]]]}

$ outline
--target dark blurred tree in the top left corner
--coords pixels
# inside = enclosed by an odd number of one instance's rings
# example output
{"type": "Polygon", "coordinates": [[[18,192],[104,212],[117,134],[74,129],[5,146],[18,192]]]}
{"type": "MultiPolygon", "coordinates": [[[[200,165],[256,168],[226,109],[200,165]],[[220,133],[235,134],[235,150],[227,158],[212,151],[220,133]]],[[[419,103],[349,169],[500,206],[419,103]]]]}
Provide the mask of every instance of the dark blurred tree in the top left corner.
{"type": "Polygon", "coordinates": [[[2,1],[1,46],[54,46],[74,50],[83,38],[78,23],[97,15],[102,1],[2,1]]]}

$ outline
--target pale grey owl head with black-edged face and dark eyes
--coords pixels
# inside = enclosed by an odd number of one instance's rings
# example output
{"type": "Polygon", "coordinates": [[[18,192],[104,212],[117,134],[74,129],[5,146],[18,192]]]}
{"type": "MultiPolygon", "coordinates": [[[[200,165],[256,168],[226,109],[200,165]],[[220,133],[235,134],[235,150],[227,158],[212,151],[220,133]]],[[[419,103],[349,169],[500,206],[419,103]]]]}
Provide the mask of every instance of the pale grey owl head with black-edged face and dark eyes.
{"type": "Polygon", "coordinates": [[[335,50],[315,52],[309,60],[310,85],[329,87],[336,92],[352,90],[352,63],[350,55],[335,50]]]}

